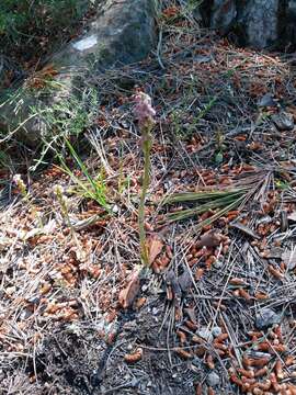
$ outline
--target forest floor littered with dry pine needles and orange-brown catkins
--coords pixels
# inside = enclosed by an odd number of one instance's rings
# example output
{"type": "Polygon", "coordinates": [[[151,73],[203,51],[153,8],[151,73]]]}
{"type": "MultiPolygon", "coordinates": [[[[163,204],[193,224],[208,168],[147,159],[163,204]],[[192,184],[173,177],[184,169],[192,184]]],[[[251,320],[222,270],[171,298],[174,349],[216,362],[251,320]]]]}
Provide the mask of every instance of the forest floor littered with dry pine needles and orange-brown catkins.
{"type": "Polygon", "coordinates": [[[1,394],[296,394],[293,58],[181,11],[149,59],[95,77],[81,158],[110,211],[70,155],[22,174],[26,198],[1,170],[1,394]],[[157,111],[139,284],[137,90],[157,111]]]}

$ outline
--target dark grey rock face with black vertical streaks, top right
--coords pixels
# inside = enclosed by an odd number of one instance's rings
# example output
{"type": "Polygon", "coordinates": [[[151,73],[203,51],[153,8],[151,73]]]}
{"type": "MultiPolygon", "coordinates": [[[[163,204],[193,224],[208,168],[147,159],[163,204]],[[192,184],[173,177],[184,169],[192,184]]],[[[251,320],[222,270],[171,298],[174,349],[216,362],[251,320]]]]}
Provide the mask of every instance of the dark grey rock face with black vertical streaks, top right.
{"type": "Polygon", "coordinates": [[[254,48],[296,45],[296,0],[212,0],[201,5],[205,25],[254,48]]]}

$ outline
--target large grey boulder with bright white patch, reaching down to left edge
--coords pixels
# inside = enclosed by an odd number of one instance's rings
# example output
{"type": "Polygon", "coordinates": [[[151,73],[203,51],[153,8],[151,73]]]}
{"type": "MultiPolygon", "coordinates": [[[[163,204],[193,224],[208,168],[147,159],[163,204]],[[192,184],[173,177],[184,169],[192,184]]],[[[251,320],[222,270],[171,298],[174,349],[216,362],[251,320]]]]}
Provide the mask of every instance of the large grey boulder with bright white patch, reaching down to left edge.
{"type": "Polygon", "coordinates": [[[144,59],[156,40],[155,4],[155,0],[104,1],[87,31],[48,60],[57,70],[54,90],[24,83],[0,97],[0,140],[4,131],[8,136],[18,135],[25,144],[36,146],[48,133],[43,112],[83,91],[87,75],[144,59]]]}

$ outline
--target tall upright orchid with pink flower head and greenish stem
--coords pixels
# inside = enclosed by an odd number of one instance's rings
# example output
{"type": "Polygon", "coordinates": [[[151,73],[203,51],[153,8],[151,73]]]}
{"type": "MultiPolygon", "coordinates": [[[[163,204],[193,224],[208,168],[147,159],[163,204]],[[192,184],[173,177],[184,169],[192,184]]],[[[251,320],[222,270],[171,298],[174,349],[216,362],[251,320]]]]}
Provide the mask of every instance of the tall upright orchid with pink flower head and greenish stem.
{"type": "Polygon", "coordinates": [[[149,266],[145,232],[145,201],[150,183],[150,150],[152,145],[151,131],[155,125],[156,111],[152,108],[151,98],[148,94],[140,92],[135,97],[134,114],[138,121],[141,133],[141,149],[144,154],[144,177],[138,210],[140,256],[143,263],[145,266],[149,266]]]}

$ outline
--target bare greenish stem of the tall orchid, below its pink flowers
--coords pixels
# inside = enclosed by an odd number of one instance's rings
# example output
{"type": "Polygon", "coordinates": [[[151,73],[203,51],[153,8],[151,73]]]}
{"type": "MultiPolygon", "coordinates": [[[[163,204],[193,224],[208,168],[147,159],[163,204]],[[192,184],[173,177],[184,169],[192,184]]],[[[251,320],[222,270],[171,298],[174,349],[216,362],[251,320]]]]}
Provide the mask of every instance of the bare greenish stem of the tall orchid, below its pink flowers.
{"type": "Polygon", "coordinates": [[[146,245],[146,232],[145,232],[145,201],[147,191],[150,182],[150,149],[151,149],[151,139],[150,134],[146,131],[143,134],[143,153],[144,153],[144,176],[143,176],[143,188],[139,203],[139,239],[140,239],[140,256],[143,263],[149,266],[149,258],[146,245]]]}

